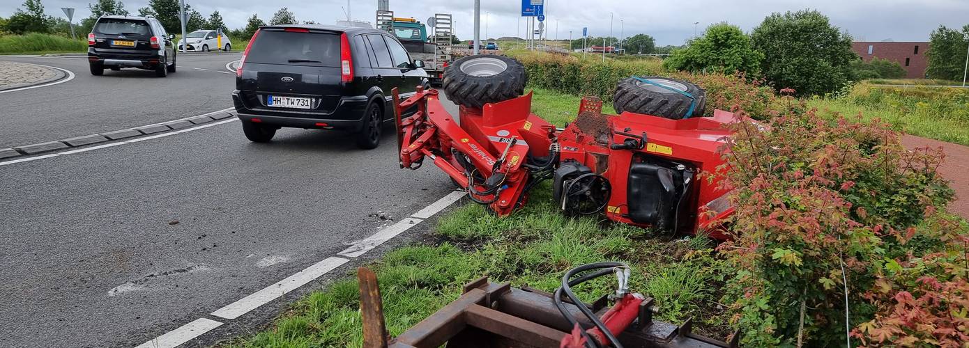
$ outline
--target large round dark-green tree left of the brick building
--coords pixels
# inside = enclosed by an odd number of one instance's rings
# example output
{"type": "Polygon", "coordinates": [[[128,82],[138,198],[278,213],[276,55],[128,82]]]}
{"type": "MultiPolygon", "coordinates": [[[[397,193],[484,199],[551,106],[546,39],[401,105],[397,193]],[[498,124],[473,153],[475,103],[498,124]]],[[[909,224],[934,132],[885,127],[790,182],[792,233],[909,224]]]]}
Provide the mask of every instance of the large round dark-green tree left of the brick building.
{"type": "Polygon", "coordinates": [[[751,33],[764,53],[761,71],[774,88],[793,88],[799,96],[821,95],[844,86],[858,59],[852,38],[817,11],[770,14],[751,33]]]}

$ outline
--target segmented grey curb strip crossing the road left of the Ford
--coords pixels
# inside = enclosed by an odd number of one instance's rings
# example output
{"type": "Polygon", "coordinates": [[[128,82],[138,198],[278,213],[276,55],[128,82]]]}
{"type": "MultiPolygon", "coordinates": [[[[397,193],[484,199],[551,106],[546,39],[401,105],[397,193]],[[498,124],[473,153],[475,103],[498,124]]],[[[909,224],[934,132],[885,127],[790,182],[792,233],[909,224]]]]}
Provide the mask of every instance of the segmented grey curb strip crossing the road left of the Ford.
{"type": "Polygon", "coordinates": [[[47,142],[37,143],[37,144],[15,146],[12,148],[3,148],[3,149],[0,149],[0,160],[13,159],[21,156],[38,155],[38,154],[43,154],[43,153],[52,152],[52,151],[97,144],[97,143],[106,142],[110,140],[139,137],[139,136],[159,133],[163,131],[181,130],[195,125],[201,125],[203,123],[219,121],[230,117],[234,117],[235,114],[232,113],[232,111],[233,111],[233,108],[229,107],[222,110],[209,112],[204,115],[191,116],[191,117],[181,118],[177,120],[172,120],[169,122],[146,125],[141,127],[134,127],[134,128],[120,130],[120,131],[106,131],[103,133],[75,136],[72,138],[61,139],[56,141],[47,141],[47,142]]]}

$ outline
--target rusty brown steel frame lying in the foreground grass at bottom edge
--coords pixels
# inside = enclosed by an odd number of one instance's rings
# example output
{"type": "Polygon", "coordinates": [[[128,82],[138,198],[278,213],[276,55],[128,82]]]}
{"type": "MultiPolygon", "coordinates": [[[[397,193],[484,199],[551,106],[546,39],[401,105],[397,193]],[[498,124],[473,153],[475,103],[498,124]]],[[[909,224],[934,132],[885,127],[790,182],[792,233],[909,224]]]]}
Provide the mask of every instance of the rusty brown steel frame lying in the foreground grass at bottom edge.
{"type": "MultiPolygon", "coordinates": [[[[363,320],[364,348],[431,348],[446,343],[456,347],[559,347],[571,328],[552,301],[552,295],[530,288],[516,289],[508,283],[493,283],[481,277],[466,284],[463,295],[434,312],[421,323],[390,339],[386,334],[380,290],[376,275],[359,268],[360,312],[363,320]]],[[[585,305],[603,315],[606,298],[595,304],[566,301],[577,318],[577,305],[585,305]]],[[[738,334],[730,343],[691,333],[692,321],[681,326],[652,320],[652,299],[644,300],[637,323],[619,333],[619,341],[629,347],[724,348],[736,347],[738,334]]],[[[579,319],[582,329],[592,323],[579,319]]]]}

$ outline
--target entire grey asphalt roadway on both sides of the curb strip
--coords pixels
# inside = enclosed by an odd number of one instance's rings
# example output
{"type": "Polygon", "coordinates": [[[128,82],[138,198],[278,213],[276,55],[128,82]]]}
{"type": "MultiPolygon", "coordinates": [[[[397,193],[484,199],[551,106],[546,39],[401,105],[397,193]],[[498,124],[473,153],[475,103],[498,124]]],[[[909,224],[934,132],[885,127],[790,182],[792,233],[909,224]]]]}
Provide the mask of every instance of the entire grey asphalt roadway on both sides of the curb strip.
{"type": "MultiPolygon", "coordinates": [[[[78,79],[0,95],[17,112],[31,112],[12,118],[4,112],[16,129],[0,128],[0,139],[39,142],[225,108],[232,75],[181,73],[192,66],[214,70],[228,61],[222,57],[183,57],[180,72],[167,79],[135,71],[94,78],[85,75],[84,61],[45,61],[78,79]],[[117,98],[134,105],[114,106],[117,98]],[[170,107],[139,104],[152,98],[170,107]]],[[[383,141],[364,151],[347,134],[284,129],[273,142],[255,144],[229,122],[0,166],[0,342],[141,344],[451,191],[435,168],[399,169],[391,129],[383,141]]],[[[284,306],[229,321],[220,334],[258,330],[284,306]]]]}

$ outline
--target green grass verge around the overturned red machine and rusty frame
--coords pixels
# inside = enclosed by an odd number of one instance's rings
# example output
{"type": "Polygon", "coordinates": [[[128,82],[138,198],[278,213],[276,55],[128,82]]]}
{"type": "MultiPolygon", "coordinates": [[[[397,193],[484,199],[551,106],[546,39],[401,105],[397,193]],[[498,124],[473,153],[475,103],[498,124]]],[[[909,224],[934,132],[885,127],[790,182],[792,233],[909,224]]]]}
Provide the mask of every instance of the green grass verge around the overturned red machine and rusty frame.
{"type": "MultiPolygon", "coordinates": [[[[549,121],[563,124],[578,111],[576,96],[534,91],[533,111],[549,121]]],[[[494,217],[468,204],[441,217],[431,234],[435,246],[401,247],[370,265],[380,281],[391,335],[450,303],[460,296],[461,285],[481,275],[553,291],[568,269],[604,260],[632,265],[631,288],[658,300],[659,318],[695,317],[701,333],[728,334],[715,304],[720,262],[709,256],[708,239],[659,236],[598,217],[565,217],[547,182],[533,189],[529,204],[511,217],[494,217]]],[[[604,277],[577,290],[592,301],[613,291],[613,282],[604,277]]],[[[351,275],[293,304],[266,331],[224,346],[359,347],[361,330],[357,280],[351,275]]]]}

